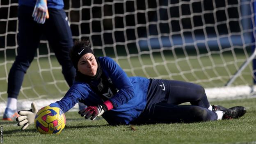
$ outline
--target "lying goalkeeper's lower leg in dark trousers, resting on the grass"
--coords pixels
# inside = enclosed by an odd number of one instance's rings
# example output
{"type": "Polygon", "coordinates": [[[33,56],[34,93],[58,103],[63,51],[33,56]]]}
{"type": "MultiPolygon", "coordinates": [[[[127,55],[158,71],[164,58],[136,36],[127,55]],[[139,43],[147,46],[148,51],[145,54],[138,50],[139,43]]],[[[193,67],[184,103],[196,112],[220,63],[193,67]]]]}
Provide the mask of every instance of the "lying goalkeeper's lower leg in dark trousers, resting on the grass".
{"type": "Polygon", "coordinates": [[[156,103],[148,113],[148,123],[191,123],[215,121],[217,113],[196,105],[171,105],[156,103]]]}

